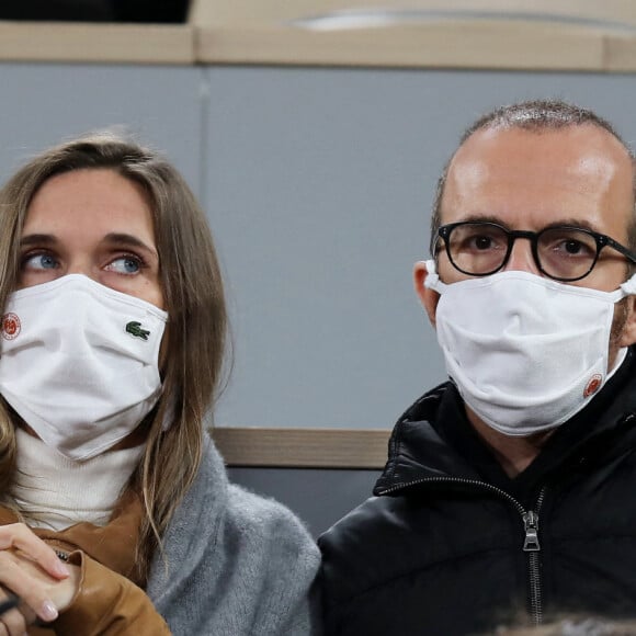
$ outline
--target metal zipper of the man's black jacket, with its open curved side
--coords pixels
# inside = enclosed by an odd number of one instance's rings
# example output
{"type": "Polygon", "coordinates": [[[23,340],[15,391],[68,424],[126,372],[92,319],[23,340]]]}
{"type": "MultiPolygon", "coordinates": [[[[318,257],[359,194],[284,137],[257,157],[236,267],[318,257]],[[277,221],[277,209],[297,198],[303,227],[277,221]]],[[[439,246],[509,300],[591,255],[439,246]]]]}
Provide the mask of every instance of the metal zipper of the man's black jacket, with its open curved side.
{"type": "Polygon", "coordinates": [[[529,572],[529,614],[533,625],[541,625],[543,622],[543,594],[541,586],[541,559],[538,553],[541,552],[541,544],[538,542],[538,513],[545,498],[545,486],[541,489],[536,499],[535,510],[525,510],[525,508],[512,495],[506,492],[497,486],[479,481],[477,479],[466,479],[463,477],[424,477],[408,481],[406,484],[398,484],[383,490],[381,495],[390,495],[397,490],[409,488],[411,486],[419,486],[420,484],[461,484],[463,486],[474,486],[486,489],[498,497],[506,499],[511,503],[523,521],[524,540],[523,552],[527,554],[527,572],[529,572]]]}

